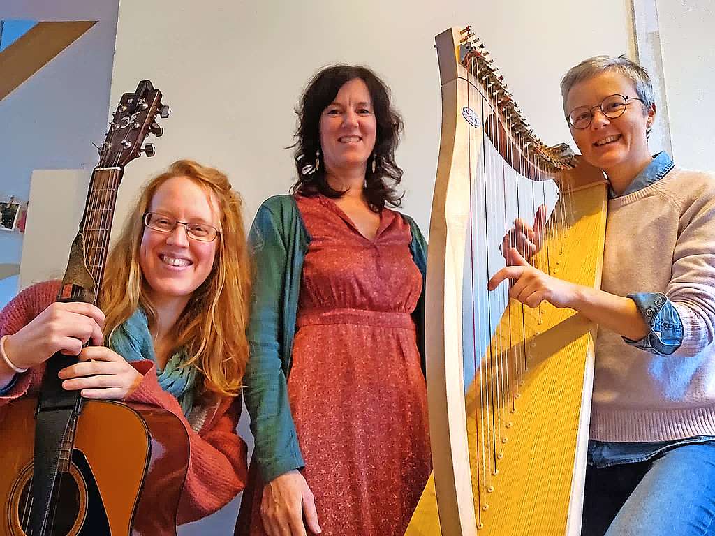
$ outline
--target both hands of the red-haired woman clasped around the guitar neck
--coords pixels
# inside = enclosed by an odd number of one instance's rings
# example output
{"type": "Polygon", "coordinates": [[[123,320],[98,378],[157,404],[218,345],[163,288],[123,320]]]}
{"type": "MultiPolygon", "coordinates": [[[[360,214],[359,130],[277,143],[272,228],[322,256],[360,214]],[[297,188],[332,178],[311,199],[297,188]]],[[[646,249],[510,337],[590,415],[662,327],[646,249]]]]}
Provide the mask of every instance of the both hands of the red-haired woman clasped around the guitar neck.
{"type": "Polygon", "coordinates": [[[64,389],[79,390],[86,398],[124,399],[137,389],[142,374],[102,346],[103,326],[104,313],[99,307],[56,302],[6,337],[5,353],[21,369],[37,367],[56,352],[77,355],[79,362],[59,372],[64,389]],[[84,347],[87,342],[92,346],[84,347]]]}

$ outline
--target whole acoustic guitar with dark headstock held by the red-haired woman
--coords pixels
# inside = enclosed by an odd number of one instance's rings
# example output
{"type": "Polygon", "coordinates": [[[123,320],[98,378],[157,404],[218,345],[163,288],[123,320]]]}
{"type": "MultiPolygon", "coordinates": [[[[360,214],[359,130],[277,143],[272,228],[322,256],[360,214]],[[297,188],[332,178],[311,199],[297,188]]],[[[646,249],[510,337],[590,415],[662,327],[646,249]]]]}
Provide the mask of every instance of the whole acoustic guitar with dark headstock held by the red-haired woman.
{"type": "MultiPolygon", "coordinates": [[[[142,152],[153,156],[152,145],[142,144],[149,134],[163,133],[156,119],[167,117],[169,107],[162,106],[161,97],[145,80],[137,91],[124,94],[114,111],[99,147],[59,301],[97,304],[124,166],[142,152]]],[[[77,394],[75,403],[72,394],[53,394],[58,387],[48,385],[49,376],[76,360],[55,354],[47,362],[39,397],[3,408],[0,536],[175,536],[189,463],[184,425],[156,407],[90,401],[77,394]],[[44,443],[51,434],[39,422],[68,407],[59,442],[48,447],[44,443]],[[47,457],[54,460],[48,463],[47,457]]]]}

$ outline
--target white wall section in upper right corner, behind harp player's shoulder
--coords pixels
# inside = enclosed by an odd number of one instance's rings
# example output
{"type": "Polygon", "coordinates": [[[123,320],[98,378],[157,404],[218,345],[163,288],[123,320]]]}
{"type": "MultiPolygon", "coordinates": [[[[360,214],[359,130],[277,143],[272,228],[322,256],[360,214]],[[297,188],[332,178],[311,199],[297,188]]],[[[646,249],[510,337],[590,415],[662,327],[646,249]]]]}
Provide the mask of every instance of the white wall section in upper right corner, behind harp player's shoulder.
{"type": "Polygon", "coordinates": [[[675,162],[715,170],[715,2],[657,5],[675,162]]]}

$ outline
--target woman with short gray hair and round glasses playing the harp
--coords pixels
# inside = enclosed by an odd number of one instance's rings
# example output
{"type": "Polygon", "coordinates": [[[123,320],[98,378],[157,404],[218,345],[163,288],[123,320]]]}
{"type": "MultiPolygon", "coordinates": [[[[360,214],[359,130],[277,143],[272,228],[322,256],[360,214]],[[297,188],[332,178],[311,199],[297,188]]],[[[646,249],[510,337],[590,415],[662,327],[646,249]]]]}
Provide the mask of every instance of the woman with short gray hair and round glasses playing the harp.
{"type": "Polygon", "coordinates": [[[531,267],[526,244],[489,282],[598,323],[582,535],[715,534],[715,174],[654,156],[648,73],[594,56],[561,81],[586,162],[608,178],[601,289],[531,267]]]}

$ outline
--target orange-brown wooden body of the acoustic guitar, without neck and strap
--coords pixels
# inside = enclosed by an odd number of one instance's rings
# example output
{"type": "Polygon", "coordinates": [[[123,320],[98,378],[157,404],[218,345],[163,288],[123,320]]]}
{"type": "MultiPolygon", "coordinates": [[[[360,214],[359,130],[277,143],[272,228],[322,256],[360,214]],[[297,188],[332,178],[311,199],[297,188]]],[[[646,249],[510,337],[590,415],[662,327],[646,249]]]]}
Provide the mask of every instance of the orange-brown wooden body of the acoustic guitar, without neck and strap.
{"type": "MultiPolygon", "coordinates": [[[[4,408],[0,437],[0,535],[26,535],[32,505],[37,400],[4,408]],[[10,447],[10,445],[6,445],[10,447]]],[[[172,413],[146,405],[86,401],[69,472],[58,475],[48,536],[175,536],[189,438],[172,413]],[[58,491],[59,490],[59,491],[58,491]]]]}

